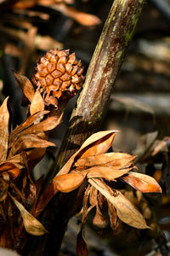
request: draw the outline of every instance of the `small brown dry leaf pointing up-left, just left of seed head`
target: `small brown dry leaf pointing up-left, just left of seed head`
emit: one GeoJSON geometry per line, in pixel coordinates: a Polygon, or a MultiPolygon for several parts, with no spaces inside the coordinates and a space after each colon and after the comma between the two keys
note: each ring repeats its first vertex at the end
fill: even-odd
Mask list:
{"type": "Polygon", "coordinates": [[[20,73],[16,73],[15,71],[13,71],[13,73],[14,73],[14,78],[20,85],[20,88],[22,89],[24,95],[31,102],[35,94],[34,86],[31,84],[31,81],[27,79],[26,76],[20,73]]]}

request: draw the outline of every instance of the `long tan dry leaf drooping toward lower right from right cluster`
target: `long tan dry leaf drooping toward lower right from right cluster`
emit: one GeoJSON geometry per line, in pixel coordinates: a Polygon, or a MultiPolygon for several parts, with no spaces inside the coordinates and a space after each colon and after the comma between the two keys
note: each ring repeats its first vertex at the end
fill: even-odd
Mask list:
{"type": "Polygon", "coordinates": [[[111,188],[99,179],[88,179],[88,182],[98,189],[107,200],[111,201],[113,206],[116,207],[116,213],[122,222],[137,229],[149,228],[143,215],[119,190],[114,189],[114,192],[111,193],[111,188]]]}

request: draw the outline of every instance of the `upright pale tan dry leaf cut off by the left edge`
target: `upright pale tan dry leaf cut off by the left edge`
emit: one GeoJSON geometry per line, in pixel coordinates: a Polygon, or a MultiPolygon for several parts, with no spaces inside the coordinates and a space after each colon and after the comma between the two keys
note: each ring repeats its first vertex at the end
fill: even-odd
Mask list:
{"type": "Polygon", "coordinates": [[[0,108],[0,160],[6,160],[8,150],[8,97],[0,108]]]}

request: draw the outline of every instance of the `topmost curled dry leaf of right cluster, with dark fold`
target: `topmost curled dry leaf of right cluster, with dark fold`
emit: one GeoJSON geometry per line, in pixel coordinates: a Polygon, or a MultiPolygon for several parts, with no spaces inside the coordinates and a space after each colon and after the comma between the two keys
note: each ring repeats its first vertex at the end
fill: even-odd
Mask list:
{"type": "Polygon", "coordinates": [[[66,162],[65,166],[62,167],[58,175],[70,172],[75,158],[78,158],[79,155],[81,157],[85,157],[87,155],[105,153],[105,151],[111,147],[115,134],[116,131],[99,131],[94,133],[91,137],[88,137],[88,139],[82,144],[82,147],[75,154],[73,154],[70,160],[66,162]],[[89,147],[90,145],[92,145],[92,147],[89,147]],[[91,149],[93,146],[94,149],[91,149]]]}

